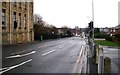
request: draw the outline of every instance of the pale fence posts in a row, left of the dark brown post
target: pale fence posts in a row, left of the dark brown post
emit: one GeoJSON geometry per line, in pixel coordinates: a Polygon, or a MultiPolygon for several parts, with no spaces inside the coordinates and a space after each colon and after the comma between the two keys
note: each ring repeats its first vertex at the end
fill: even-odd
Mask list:
{"type": "Polygon", "coordinates": [[[104,73],[104,52],[103,52],[103,48],[100,45],[96,44],[94,42],[94,40],[92,40],[90,38],[88,38],[88,44],[89,44],[89,53],[91,54],[90,57],[95,59],[94,63],[97,64],[98,74],[103,75],[103,73],[104,73]]]}

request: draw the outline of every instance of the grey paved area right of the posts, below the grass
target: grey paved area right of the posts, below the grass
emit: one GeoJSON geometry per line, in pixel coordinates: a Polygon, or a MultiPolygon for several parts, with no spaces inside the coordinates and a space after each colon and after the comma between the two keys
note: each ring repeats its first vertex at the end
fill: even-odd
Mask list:
{"type": "Polygon", "coordinates": [[[102,46],[104,49],[104,56],[111,58],[111,73],[119,75],[120,72],[120,47],[102,46]]]}

